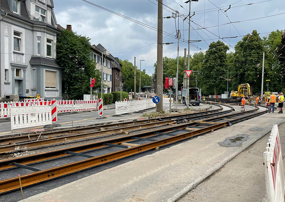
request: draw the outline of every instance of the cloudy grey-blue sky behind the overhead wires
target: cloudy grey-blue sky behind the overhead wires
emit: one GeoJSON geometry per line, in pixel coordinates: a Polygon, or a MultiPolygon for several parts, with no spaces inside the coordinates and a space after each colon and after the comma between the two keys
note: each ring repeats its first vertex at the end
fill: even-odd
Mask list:
{"type": "MultiPolygon", "coordinates": [[[[157,31],[82,0],[53,1],[58,24],[63,27],[66,27],[66,24],[71,24],[73,31],[90,37],[92,45],[102,44],[114,57],[122,60],[128,59],[132,63],[134,63],[134,57],[137,57],[136,63],[138,67],[140,65],[138,60],[145,60],[142,61],[142,69],[145,69],[149,75],[154,72],[153,64],[156,62],[157,31]]],[[[177,10],[179,15],[187,16],[189,3],[186,4],[184,1],[163,0],[165,4],[163,17],[172,16],[173,10],[177,10]]],[[[157,27],[157,0],[89,0],[89,2],[154,28],[157,27]]],[[[195,15],[191,18],[194,23],[191,22],[190,40],[202,41],[191,43],[193,45],[190,46],[191,55],[199,52],[200,49],[202,51],[207,50],[208,45],[213,41],[219,40],[219,37],[238,36],[236,38],[224,39],[225,44],[234,47],[236,42],[241,40],[240,36],[251,33],[254,29],[260,33],[260,37],[266,37],[267,32],[285,29],[285,14],[276,15],[285,13],[284,0],[199,0],[198,2],[191,2],[191,15],[193,15],[193,12],[195,12],[195,15]],[[230,4],[231,8],[224,12],[229,8],[230,4]],[[262,18],[270,15],[276,16],[262,18]],[[255,18],[262,19],[251,20],[255,18]],[[238,22],[243,20],[249,21],[238,22]],[[237,23],[231,24],[230,22],[237,23]],[[225,23],[229,24],[222,25],[225,23]],[[205,29],[194,30],[197,28],[205,29]]],[[[183,23],[183,18],[185,17],[163,19],[165,37],[163,42],[175,42],[174,44],[164,45],[163,56],[177,57],[177,39],[175,39],[175,35],[176,28],[178,29],[178,19],[179,30],[181,30],[179,55],[184,56],[184,48],[188,48],[189,24],[188,20],[185,20],[183,23]]],[[[234,51],[233,48],[230,50],[234,51]]]]}

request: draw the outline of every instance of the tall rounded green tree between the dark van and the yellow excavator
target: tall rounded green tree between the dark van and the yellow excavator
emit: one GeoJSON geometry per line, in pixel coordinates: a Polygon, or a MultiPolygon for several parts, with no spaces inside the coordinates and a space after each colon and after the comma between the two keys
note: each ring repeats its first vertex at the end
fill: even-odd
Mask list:
{"type": "Polygon", "coordinates": [[[221,76],[226,67],[227,50],[229,47],[220,40],[212,42],[206,50],[202,67],[204,81],[202,91],[206,94],[220,94],[227,88],[225,79],[221,76]]]}

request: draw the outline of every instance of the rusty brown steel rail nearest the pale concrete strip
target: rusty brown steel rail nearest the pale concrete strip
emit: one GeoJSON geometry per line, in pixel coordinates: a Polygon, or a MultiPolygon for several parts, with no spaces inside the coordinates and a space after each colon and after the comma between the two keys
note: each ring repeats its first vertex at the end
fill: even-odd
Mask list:
{"type": "MultiPolygon", "coordinates": [[[[247,116],[242,117],[242,120],[249,119],[249,118],[254,117],[254,116],[259,116],[263,113],[266,113],[266,111],[257,112],[254,114],[249,114],[247,116]]],[[[232,123],[234,121],[235,122],[240,121],[240,118],[231,120],[232,123]]],[[[159,147],[159,146],[164,146],[164,145],[167,145],[170,143],[174,143],[177,141],[188,139],[190,137],[202,135],[202,134],[209,132],[211,130],[216,130],[216,129],[219,129],[221,127],[224,127],[224,126],[228,125],[228,122],[230,122],[230,121],[222,122],[219,124],[214,124],[214,125],[207,126],[205,128],[201,128],[201,129],[197,129],[197,130],[194,130],[191,132],[185,132],[185,133],[182,133],[179,135],[171,136],[169,138],[164,138],[164,139],[153,141],[150,143],[146,143],[146,144],[142,144],[142,145],[138,145],[138,146],[133,146],[131,148],[122,149],[122,150],[119,150],[116,152],[111,152],[111,153],[100,155],[97,157],[88,157],[88,159],[68,163],[65,165],[58,166],[58,167],[48,168],[48,169],[41,170],[41,171],[35,171],[33,173],[22,175],[21,176],[21,183],[22,183],[22,186],[24,187],[27,185],[31,185],[31,184],[35,184],[38,182],[43,182],[45,180],[53,179],[53,178],[56,178],[59,176],[63,176],[63,175],[69,174],[69,173],[80,171],[80,170],[83,170],[86,168],[91,168],[91,167],[94,167],[96,165],[104,164],[106,162],[121,159],[123,157],[134,155],[134,154],[137,154],[140,152],[145,152],[145,151],[148,151],[150,149],[154,149],[154,148],[159,147]]],[[[189,123],[186,123],[186,124],[189,124],[189,123]]],[[[186,124],[181,124],[181,125],[184,126],[186,124]]],[[[155,134],[155,131],[153,131],[152,134],[155,134]]],[[[101,146],[105,146],[105,144],[102,144],[101,146]]],[[[66,153],[67,152],[68,151],[66,150],[66,153]]],[[[70,152],[70,153],[72,153],[72,152],[70,152]]],[[[14,159],[14,161],[15,161],[15,159],[14,159]]],[[[19,162],[17,162],[17,163],[19,163],[19,162]]],[[[0,193],[19,188],[20,185],[19,185],[18,180],[19,180],[18,177],[13,177],[13,178],[9,178],[9,179],[5,179],[5,180],[0,181],[0,193]]]]}

